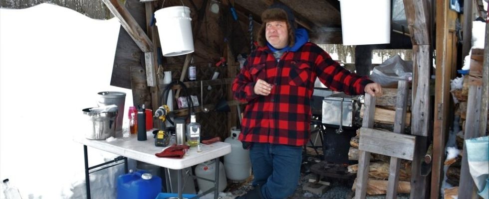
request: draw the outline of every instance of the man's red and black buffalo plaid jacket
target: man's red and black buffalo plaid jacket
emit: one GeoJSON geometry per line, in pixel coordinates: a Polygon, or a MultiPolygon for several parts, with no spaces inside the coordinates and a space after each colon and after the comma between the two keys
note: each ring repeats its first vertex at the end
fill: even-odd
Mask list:
{"type": "Polygon", "coordinates": [[[268,47],[258,47],[233,82],[233,95],[247,102],[242,133],[245,142],[302,146],[310,137],[311,97],[316,77],[334,91],[364,94],[371,80],[350,73],[317,45],[307,42],[276,61],[268,47]],[[273,84],[270,95],[254,94],[258,79],[273,84]]]}

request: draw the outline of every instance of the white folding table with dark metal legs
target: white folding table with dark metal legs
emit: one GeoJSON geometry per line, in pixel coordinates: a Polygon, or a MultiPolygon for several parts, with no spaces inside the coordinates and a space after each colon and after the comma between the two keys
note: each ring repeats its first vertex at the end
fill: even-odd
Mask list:
{"type": "MultiPolygon", "coordinates": [[[[131,158],[141,162],[157,165],[167,169],[177,170],[177,182],[178,182],[178,197],[182,199],[182,169],[191,167],[205,161],[216,159],[216,178],[214,181],[214,188],[200,194],[205,194],[214,191],[214,198],[217,199],[219,195],[219,157],[231,153],[231,144],[225,142],[216,142],[210,145],[202,144],[201,152],[197,152],[197,147],[192,147],[188,151],[188,156],[184,156],[182,159],[175,158],[160,158],[155,154],[162,152],[167,147],[156,147],[154,144],[154,138],[152,131],[148,131],[147,140],[138,141],[137,136],[130,135],[129,137],[119,137],[113,141],[107,142],[106,140],[90,140],[83,136],[75,136],[73,140],[77,143],[83,144],[84,158],[85,158],[85,180],[87,189],[87,199],[90,199],[90,181],[88,178],[88,171],[98,166],[106,165],[103,163],[95,167],[88,167],[88,154],[87,146],[114,153],[125,157],[126,173],[127,173],[127,159],[131,158]]],[[[114,161],[111,161],[114,162],[114,161]]]]}

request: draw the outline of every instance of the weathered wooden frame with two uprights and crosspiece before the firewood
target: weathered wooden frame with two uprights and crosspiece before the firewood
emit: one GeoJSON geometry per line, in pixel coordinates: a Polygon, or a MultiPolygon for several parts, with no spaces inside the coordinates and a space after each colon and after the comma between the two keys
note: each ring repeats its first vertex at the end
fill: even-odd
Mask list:
{"type": "Polygon", "coordinates": [[[399,168],[401,159],[413,160],[416,136],[403,134],[406,119],[409,86],[407,81],[399,81],[397,89],[394,132],[373,129],[375,98],[365,94],[365,111],[360,128],[358,173],[355,199],[365,199],[368,187],[370,153],[391,157],[389,182],[386,199],[397,198],[399,168]]]}

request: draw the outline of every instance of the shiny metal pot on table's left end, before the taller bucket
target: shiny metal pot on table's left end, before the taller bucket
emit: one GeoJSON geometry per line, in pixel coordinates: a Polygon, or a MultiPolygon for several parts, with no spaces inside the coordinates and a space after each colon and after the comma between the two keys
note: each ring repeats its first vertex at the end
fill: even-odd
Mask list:
{"type": "Polygon", "coordinates": [[[104,140],[115,137],[118,111],[90,112],[90,108],[83,109],[87,115],[85,137],[91,140],[104,140]]]}

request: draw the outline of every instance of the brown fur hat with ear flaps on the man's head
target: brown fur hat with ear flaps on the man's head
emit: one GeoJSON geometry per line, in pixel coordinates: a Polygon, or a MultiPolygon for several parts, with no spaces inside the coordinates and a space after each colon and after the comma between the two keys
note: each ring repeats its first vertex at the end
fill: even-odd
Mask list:
{"type": "Polygon", "coordinates": [[[261,13],[261,27],[256,40],[258,45],[266,46],[265,28],[266,22],[269,21],[285,21],[288,29],[288,46],[292,47],[295,44],[295,19],[292,10],[282,3],[273,3],[261,13]]]}

